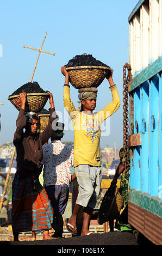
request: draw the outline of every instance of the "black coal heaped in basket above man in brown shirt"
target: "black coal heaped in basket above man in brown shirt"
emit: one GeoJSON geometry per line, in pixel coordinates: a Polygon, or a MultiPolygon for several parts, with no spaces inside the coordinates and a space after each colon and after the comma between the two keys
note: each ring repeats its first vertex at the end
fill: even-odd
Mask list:
{"type": "Polygon", "coordinates": [[[23,84],[23,86],[15,90],[15,92],[10,96],[18,95],[20,93],[47,93],[47,92],[45,92],[45,90],[43,90],[39,86],[38,82],[33,82],[33,83],[29,82],[29,83],[23,84]]]}

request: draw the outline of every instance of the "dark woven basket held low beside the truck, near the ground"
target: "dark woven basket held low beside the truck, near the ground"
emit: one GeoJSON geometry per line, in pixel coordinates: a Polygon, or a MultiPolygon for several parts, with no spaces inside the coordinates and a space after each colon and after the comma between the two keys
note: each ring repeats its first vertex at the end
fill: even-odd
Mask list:
{"type": "Polygon", "coordinates": [[[109,187],[102,200],[98,212],[98,224],[102,225],[104,222],[116,220],[123,206],[123,198],[120,189],[117,186],[109,187]]]}

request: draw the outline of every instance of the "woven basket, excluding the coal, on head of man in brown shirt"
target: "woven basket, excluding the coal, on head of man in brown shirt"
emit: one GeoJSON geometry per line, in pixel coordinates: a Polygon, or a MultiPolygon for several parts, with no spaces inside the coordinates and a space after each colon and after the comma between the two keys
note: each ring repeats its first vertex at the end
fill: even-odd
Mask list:
{"type": "MultiPolygon", "coordinates": [[[[27,93],[27,101],[25,106],[25,112],[40,112],[41,109],[46,105],[49,98],[48,93],[27,93]]],[[[20,95],[9,96],[8,100],[20,111],[21,101],[20,95]]]]}

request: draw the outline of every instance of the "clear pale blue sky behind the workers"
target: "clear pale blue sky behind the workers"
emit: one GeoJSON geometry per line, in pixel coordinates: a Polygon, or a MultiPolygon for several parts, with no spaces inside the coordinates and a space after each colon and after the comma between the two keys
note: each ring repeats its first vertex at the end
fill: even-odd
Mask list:
{"type": "MultiPolygon", "coordinates": [[[[63,86],[65,77],[61,66],[76,55],[92,54],[110,66],[113,80],[119,90],[121,106],[103,124],[100,146],[121,148],[123,145],[123,65],[129,63],[128,17],[138,0],[28,0],[2,1],[0,8],[0,144],[13,141],[17,109],[8,100],[23,84],[30,81],[38,51],[24,45],[40,48],[47,32],[35,70],[33,82],[53,94],[60,121],[65,123],[63,141],[73,141],[71,120],[64,109],[63,86]]],[[[78,107],[78,90],[70,87],[71,99],[78,107]]],[[[98,87],[95,111],[111,101],[109,83],[98,87]]],[[[45,108],[50,107],[47,101],[45,108]]]]}

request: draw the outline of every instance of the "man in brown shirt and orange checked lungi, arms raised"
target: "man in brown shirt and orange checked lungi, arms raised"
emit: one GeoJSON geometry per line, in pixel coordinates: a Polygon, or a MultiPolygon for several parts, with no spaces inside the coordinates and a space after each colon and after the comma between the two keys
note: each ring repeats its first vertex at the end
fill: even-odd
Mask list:
{"type": "Polygon", "coordinates": [[[53,209],[45,189],[39,182],[42,171],[42,145],[51,137],[52,122],[57,118],[52,93],[49,95],[49,123],[43,132],[38,133],[39,118],[35,113],[26,117],[26,93],[20,93],[21,109],[16,120],[13,141],[17,151],[17,171],[13,180],[12,197],[14,241],[18,241],[18,233],[23,231],[43,230],[43,239],[53,238],[48,235],[53,209]]]}

